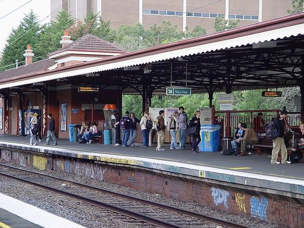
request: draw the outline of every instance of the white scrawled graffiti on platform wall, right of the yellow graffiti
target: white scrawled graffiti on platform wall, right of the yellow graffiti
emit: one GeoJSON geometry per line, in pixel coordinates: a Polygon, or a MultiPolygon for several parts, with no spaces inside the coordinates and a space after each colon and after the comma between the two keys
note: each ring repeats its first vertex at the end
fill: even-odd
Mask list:
{"type": "Polygon", "coordinates": [[[91,177],[92,179],[102,180],[103,174],[106,169],[103,169],[101,166],[96,164],[82,163],[78,161],[73,161],[73,166],[75,174],[80,176],[91,177]]]}

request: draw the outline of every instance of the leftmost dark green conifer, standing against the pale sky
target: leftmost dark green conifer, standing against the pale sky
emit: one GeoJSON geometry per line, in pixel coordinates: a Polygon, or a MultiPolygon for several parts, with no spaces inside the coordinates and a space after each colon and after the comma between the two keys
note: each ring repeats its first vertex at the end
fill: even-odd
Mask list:
{"type": "Polygon", "coordinates": [[[39,24],[37,15],[31,10],[29,14],[25,15],[19,26],[13,29],[8,36],[0,62],[1,71],[14,67],[16,59],[18,59],[19,65],[24,65],[23,53],[28,44],[34,50],[35,56],[41,55],[39,51],[35,50],[39,42],[40,30],[41,25],[39,24]]]}

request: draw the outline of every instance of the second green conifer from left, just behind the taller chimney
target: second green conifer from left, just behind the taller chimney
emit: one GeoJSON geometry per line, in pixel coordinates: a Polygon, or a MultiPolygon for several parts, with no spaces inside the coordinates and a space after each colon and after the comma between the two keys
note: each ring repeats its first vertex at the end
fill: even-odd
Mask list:
{"type": "Polygon", "coordinates": [[[65,10],[58,13],[56,21],[52,21],[43,27],[41,32],[41,39],[37,50],[47,55],[61,48],[60,40],[65,29],[70,28],[75,22],[70,14],[65,10]]]}

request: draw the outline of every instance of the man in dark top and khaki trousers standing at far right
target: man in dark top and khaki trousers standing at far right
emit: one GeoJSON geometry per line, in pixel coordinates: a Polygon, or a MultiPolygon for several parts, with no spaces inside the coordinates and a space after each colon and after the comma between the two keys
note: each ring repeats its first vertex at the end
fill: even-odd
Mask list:
{"type": "Polygon", "coordinates": [[[275,125],[277,129],[279,130],[279,136],[273,140],[273,150],[271,154],[271,164],[290,164],[291,162],[287,162],[287,149],[286,145],[284,143],[284,124],[285,124],[285,119],[287,117],[287,111],[282,110],[280,115],[276,117],[275,119],[275,125]],[[278,154],[279,151],[281,151],[281,157],[282,160],[281,162],[278,162],[278,154]]]}

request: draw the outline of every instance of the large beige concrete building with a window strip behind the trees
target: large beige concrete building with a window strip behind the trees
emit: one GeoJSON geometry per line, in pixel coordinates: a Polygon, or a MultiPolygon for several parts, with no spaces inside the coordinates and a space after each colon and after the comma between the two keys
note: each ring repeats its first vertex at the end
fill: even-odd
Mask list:
{"type": "Polygon", "coordinates": [[[240,19],[239,26],[265,21],[287,15],[292,0],[51,0],[51,15],[56,19],[64,9],[73,17],[83,20],[92,10],[110,20],[111,26],[140,22],[149,26],[168,19],[181,30],[192,30],[196,25],[214,32],[215,18],[240,19]]]}

